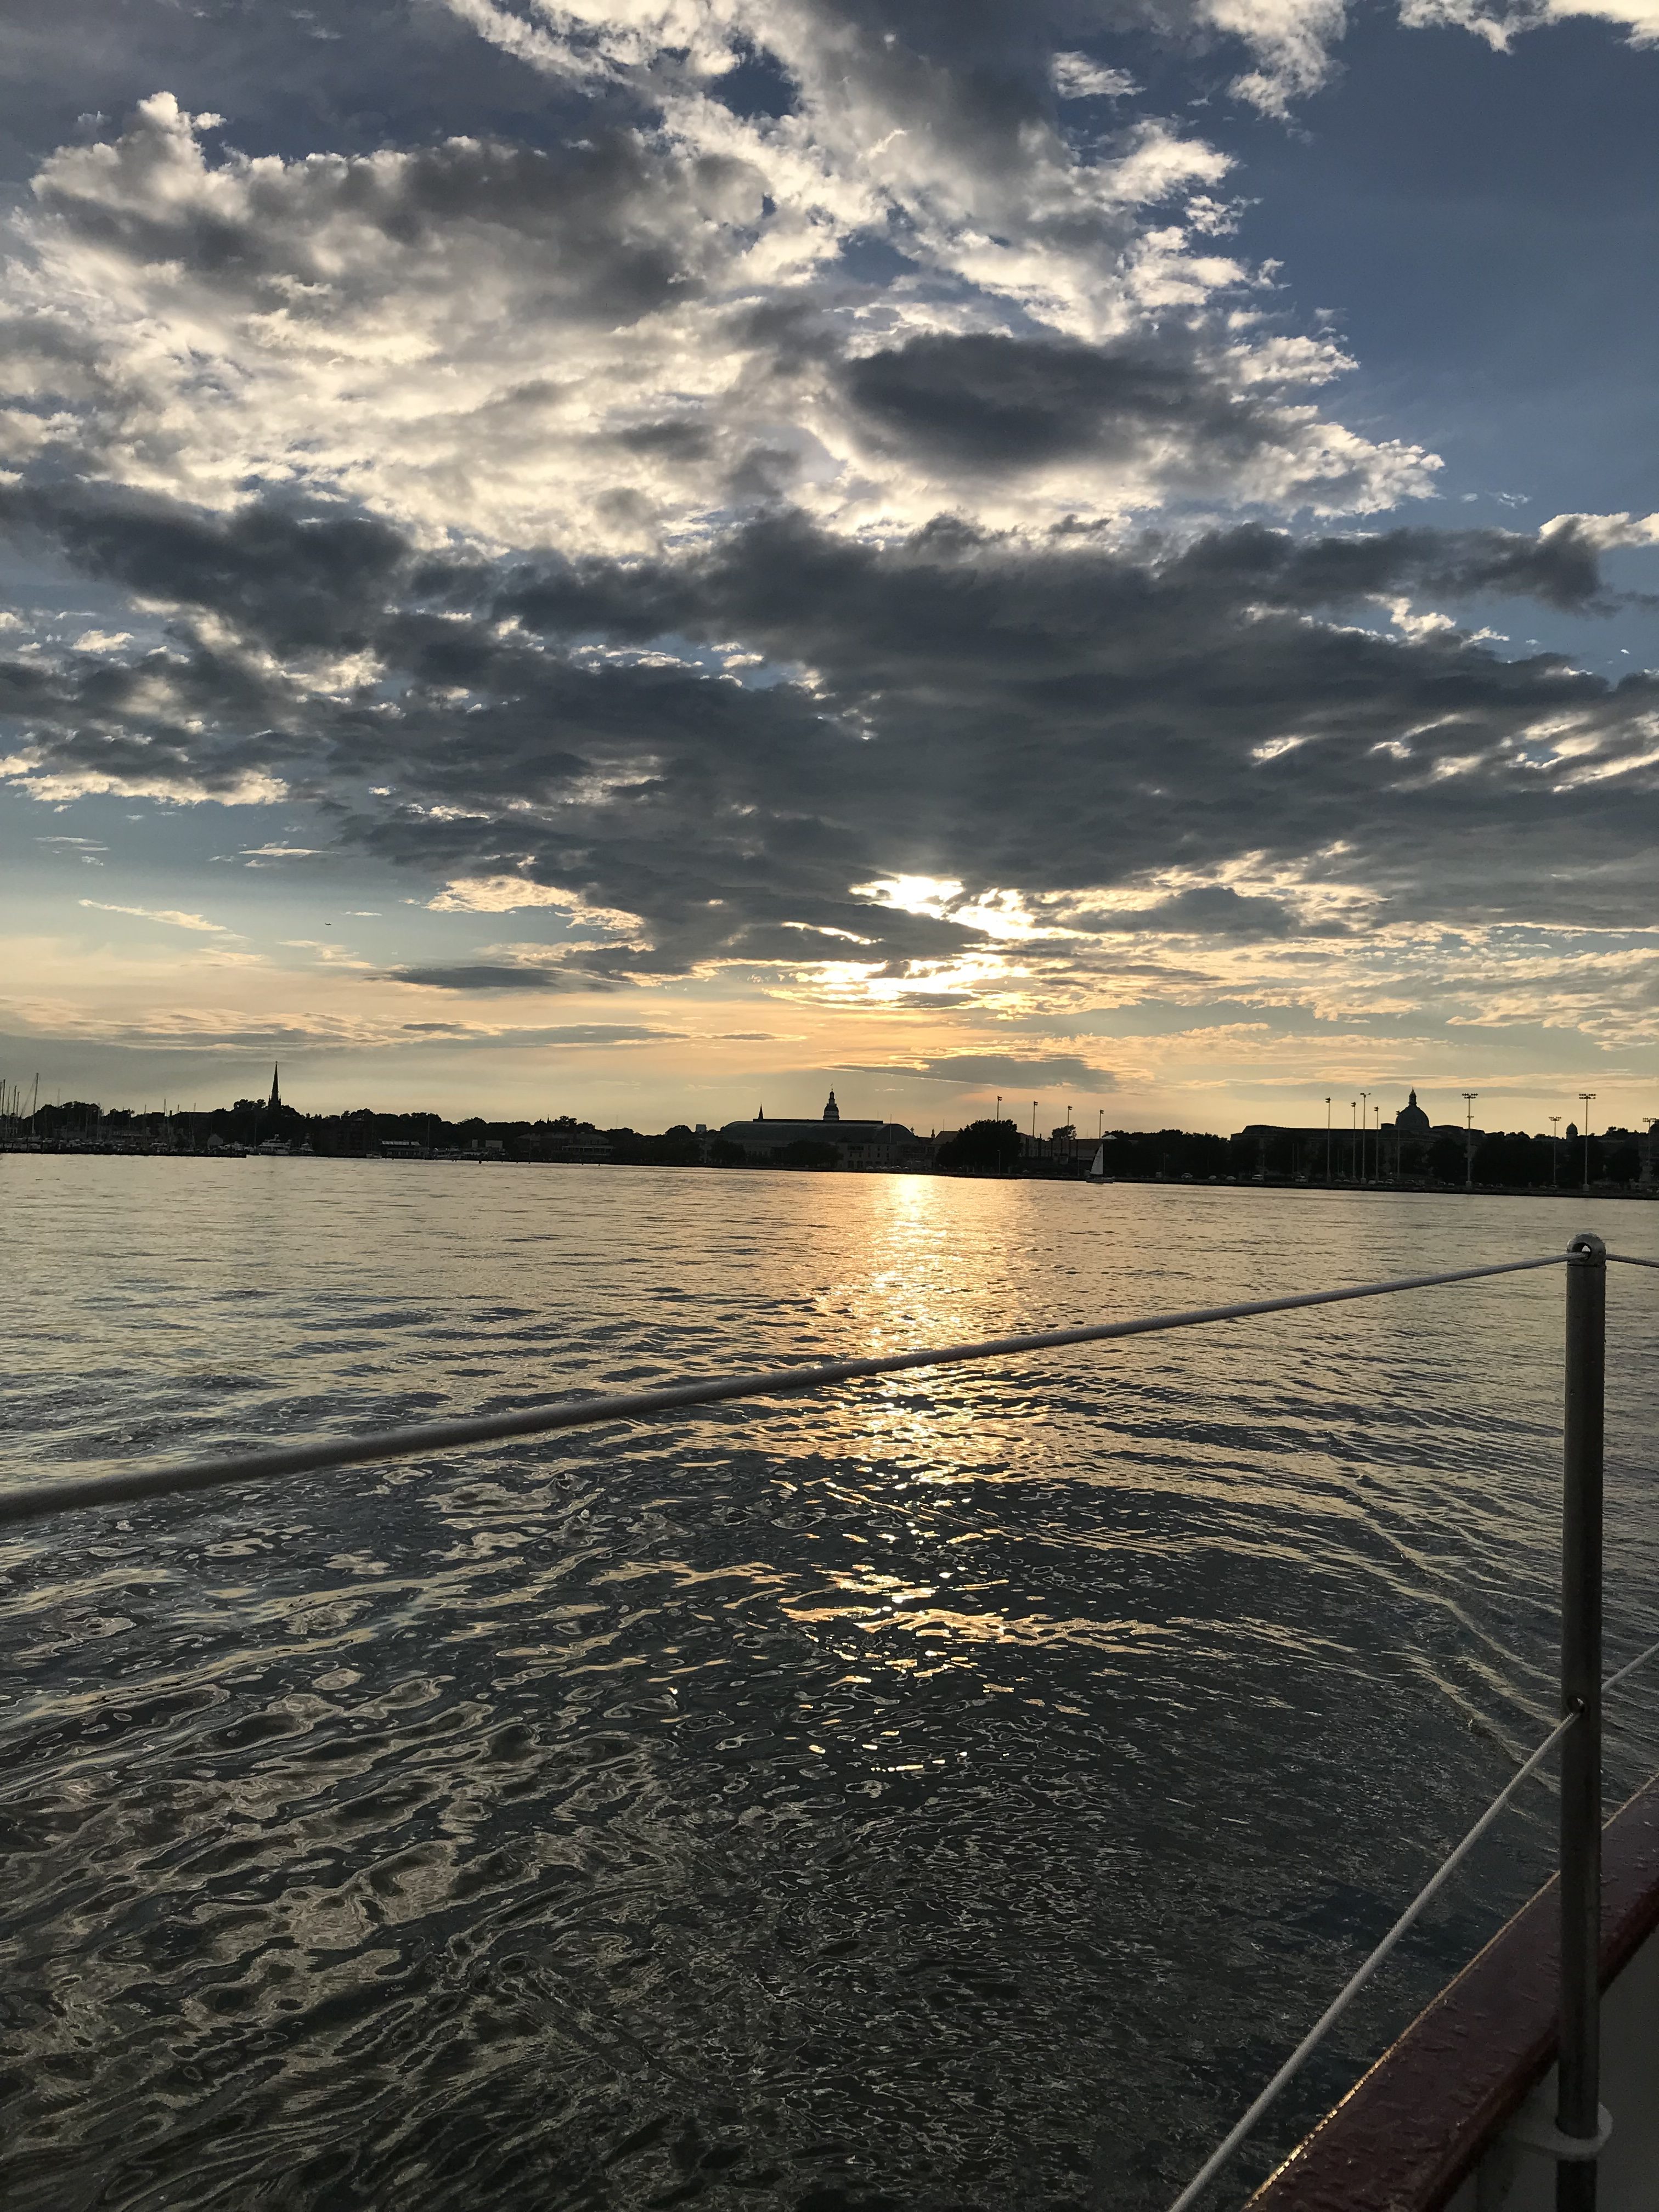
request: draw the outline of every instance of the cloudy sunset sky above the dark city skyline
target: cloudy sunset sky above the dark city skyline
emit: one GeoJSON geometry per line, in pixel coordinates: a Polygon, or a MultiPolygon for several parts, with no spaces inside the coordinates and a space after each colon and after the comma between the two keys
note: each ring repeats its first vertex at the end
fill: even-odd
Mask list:
{"type": "Polygon", "coordinates": [[[9,0],[0,1075],[1659,1113],[1659,0],[9,0]]]}

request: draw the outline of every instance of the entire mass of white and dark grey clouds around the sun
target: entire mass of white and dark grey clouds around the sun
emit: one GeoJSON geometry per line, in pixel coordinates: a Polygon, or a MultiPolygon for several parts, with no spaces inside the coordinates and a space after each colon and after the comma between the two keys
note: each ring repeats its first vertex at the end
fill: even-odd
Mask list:
{"type": "MultiPolygon", "coordinates": [[[[1285,113],[1338,0],[376,11],[445,55],[418,119],[365,38],[352,97],[292,64],[261,106],[234,13],[190,18],[243,40],[223,95],[166,46],[13,232],[0,522],[100,586],[84,650],[7,630],[15,790],[283,799],[239,856],[400,869],[387,973],[451,998],[1380,1006],[1438,929],[1447,993],[1506,1006],[1555,958],[1515,931],[1650,914],[1652,677],[1458,617],[1610,611],[1652,518],[1336,526],[1433,456],[1340,420],[1248,179],[1121,66],[1285,113]]],[[[1562,1004],[1648,1020],[1584,975],[1562,1004]]]]}

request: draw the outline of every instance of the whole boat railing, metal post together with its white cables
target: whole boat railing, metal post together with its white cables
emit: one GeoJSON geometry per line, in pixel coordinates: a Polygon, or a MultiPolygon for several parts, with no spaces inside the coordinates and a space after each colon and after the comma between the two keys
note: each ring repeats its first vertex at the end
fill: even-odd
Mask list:
{"type": "Polygon", "coordinates": [[[1279,1298],[1245,1298],[1128,1321],[1099,1321],[1073,1329],[1035,1329],[991,1336],[964,1345],[933,1345],[914,1352],[883,1352],[852,1360],[821,1360],[776,1367],[763,1374],[703,1376],[657,1389],[593,1398],[560,1398],[553,1405],[511,1413],[476,1413],[460,1420],[429,1420],[365,1436],[285,1444],[276,1451],[226,1453],[175,1467],[135,1467],[97,1475],[64,1475],[20,1482],[0,1491],[0,1528],[49,1520],[60,1513],[97,1511],[146,1498],[179,1498],[221,1491],[290,1475],[365,1467],[380,1460],[420,1458],[471,1444],[551,1436],[608,1422],[648,1420],[661,1413],[723,1405],[739,1398],[794,1398],[869,1376],[909,1374],[925,1367],[956,1367],[967,1360],[1057,1352],[1071,1345],[1119,1343],[1168,1329],[1192,1329],[1219,1321],[1250,1321],[1292,1314],[1358,1298],[1387,1298],[1407,1290],[1438,1290],[1486,1276],[1528,1274],[1566,1267],[1566,1389],[1562,1418],[1562,1719],[1522,1761],[1469,1834],[1436,1867],[1400,1913],[1383,1942],[1338,1991],[1296,2051],[1241,2115],[1170,2205],[1188,2212],[1221,2174],[1256,2121],[1301,2073],[1336,2022],[1378,1973],[1400,1938],[1444,1889],[1469,1851],[1498,1820],[1520,1787],[1559,1745],[1559,2033],[1557,2110],[1551,2139],[1542,2146],[1557,2161],[1557,2212],[1593,2212],[1597,2154],[1608,2139],[1608,2115],[1599,2101],[1599,1929],[1601,1929],[1601,1699],[1648,1659],[1659,1644],[1601,1679],[1601,1464],[1606,1402],[1606,1270],[1608,1263],[1659,1267],[1659,1261],[1608,1252],[1599,1237],[1575,1237],[1566,1252],[1498,1261],[1482,1267],[1447,1267],[1436,1274],[1405,1274],[1380,1283],[1347,1283],[1336,1290],[1305,1290],[1279,1298]]]}

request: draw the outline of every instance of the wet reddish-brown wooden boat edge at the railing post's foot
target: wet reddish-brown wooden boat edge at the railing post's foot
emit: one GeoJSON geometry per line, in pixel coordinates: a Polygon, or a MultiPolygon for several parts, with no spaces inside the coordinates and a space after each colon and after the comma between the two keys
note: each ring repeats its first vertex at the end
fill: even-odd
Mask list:
{"type": "MultiPolygon", "coordinates": [[[[1659,1774],[1601,1829],[1601,1989],[1659,1929],[1659,1774]]],[[[1383,2053],[1248,2212],[1440,2212],[1555,2059],[1555,1878],[1383,2053]]]]}

